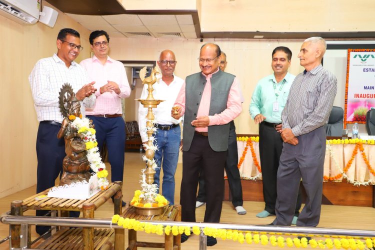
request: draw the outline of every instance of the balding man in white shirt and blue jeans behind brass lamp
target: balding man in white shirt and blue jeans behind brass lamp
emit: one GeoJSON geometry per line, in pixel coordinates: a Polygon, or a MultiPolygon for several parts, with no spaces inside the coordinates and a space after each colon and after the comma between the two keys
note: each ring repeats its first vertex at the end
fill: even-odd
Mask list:
{"type": "MultiPolygon", "coordinates": [[[[163,169],[162,195],[174,204],[174,173],[177,168],[178,149],[181,141],[181,128],[179,122],[181,117],[174,119],[170,116],[174,100],[183,84],[183,79],[173,74],[177,64],[173,51],[166,49],[161,51],[157,65],[161,70],[162,77],[158,83],[153,84],[153,97],[158,100],[164,100],[152,111],[155,115],[156,132],[153,134],[157,149],[155,157],[157,163],[156,173],[153,177],[154,184],[159,187],[160,167],[163,169]]],[[[147,98],[147,85],[144,84],[141,99],[147,98]]],[[[146,134],[146,116],[147,108],[139,105],[138,124],[142,142],[147,142],[146,134]]]]}

